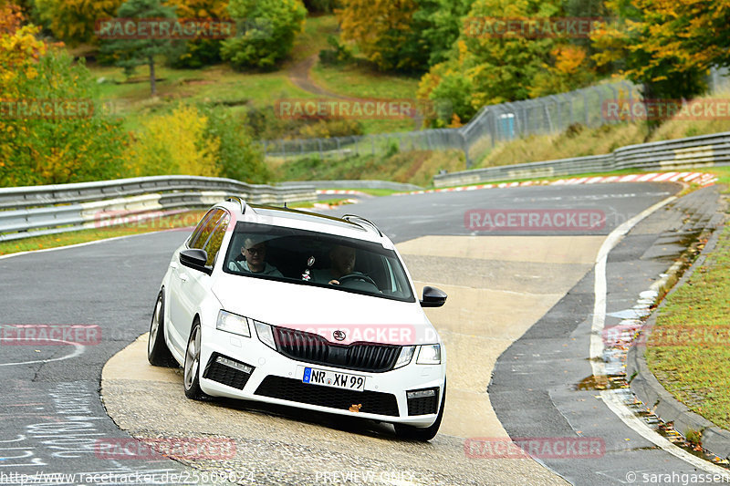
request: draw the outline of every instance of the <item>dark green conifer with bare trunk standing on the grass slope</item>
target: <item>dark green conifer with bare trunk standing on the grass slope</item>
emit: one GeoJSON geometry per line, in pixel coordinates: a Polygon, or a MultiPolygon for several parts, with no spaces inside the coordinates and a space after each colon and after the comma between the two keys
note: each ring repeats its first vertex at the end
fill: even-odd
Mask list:
{"type": "MultiPolygon", "coordinates": [[[[174,19],[173,7],[162,5],[160,0],[127,0],[117,11],[120,18],[168,18],[174,19]]],[[[155,81],[155,56],[169,54],[171,40],[168,38],[127,39],[119,38],[105,40],[102,52],[114,58],[114,64],[124,68],[127,76],[131,76],[139,66],[147,65],[150,68],[150,91],[152,96],[157,95],[155,81]]]]}

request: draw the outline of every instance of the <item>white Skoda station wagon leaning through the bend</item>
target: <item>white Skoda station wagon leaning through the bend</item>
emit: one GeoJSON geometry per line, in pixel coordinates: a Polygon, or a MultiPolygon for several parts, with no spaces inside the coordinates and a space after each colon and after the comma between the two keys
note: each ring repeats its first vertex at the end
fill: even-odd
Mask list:
{"type": "Polygon", "coordinates": [[[172,255],[148,358],[188,398],[243,398],[392,423],[433,439],[446,353],[391,240],[359,216],[216,204],[172,255]]]}

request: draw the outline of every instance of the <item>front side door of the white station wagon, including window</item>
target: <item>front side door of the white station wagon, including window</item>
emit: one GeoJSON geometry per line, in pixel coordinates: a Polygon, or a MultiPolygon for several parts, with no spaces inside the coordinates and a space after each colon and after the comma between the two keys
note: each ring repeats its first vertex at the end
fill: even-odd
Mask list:
{"type": "MultiPolygon", "coordinates": [[[[205,262],[205,266],[213,270],[215,257],[221,249],[221,243],[225,236],[225,231],[228,228],[228,223],[231,222],[231,216],[228,212],[221,210],[220,214],[216,214],[214,218],[210,220],[215,222],[212,226],[210,233],[207,230],[203,230],[200,240],[195,244],[199,244],[203,241],[203,236],[207,234],[207,239],[203,244],[203,250],[208,255],[208,260],[205,262]]],[[[183,321],[179,325],[181,338],[184,339],[184,346],[187,346],[187,339],[190,336],[190,330],[193,326],[193,318],[195,314],[201,308],[201,303],[211,293],[211,280],[212,276],[204,272],[197,270],[188,269],[188,279],[183,282],[184,292],[181,293],[180,305],[183,307],[183,321]]]]}

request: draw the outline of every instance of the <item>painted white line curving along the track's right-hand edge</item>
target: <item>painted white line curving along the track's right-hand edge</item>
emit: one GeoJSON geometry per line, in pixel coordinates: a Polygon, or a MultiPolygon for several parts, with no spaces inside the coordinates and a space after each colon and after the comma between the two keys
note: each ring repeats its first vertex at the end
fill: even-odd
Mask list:
{"type": "MultiPolygon", "coordinates": [[[[613,230],[600,246],[595,266],[595,283],[593,290],[595,294],[595,304],[593,305],[593,324],[591,326],[589,348],[589,356],[591,358],[590,366],[593,369],[593,375],[596,377],[604,376],[606,374],[606,367],[603,363],[603,339],[601,336],[603,333],[603,327],[606,323],[606,261],[609,253],[620,242],[621,238],[631,231],[631,228],[652,214],[652,212],[657,211],[675,199],[676,197],[672,196],[662,202],[657,202],[651,208],[640,212],[631,218],[631,220],[624,222],[618,228],[613,230]]],[[[727,470],[724,468],[715,466],[713,463],[706,460],[702,460],[663,438],[641,419],[636,417],[631,409],[624,405],[615,390],[602,390],[600,392],[600,397],[603,399],[610,411],[616,414],[623,423],[641,435],[644,439],[652,442],[652,444],[662,448],[662,450],[665,450],[666,452],[669,452],[674,457],[692,464],[695,468],[715,474],[727,474],[727,470]]]]}

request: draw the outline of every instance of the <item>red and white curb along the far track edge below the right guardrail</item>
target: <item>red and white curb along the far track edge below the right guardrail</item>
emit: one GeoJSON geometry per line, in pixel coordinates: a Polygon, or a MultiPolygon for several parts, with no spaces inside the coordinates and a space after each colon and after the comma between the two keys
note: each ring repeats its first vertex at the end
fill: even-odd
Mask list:
{"type": "Polygon", "coordinates": [[[610,175],[597,177],[575,177],[558,181],[522,181],[502,182],[499,184],[479,184],[473,186],[450,187],[445,189],[429,189],[425,191],[399,192],[394,196],[409,194],[426,194],[429,192],[476,191],[479,189],[494,189],[523,186],[568,186],[579,184],[606,184],[610,182],[692,182],[700,186],[709,186],[717,181],[717,176],[705,172],[652,172],[644,174],[610,175]]]}

